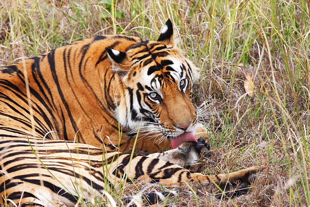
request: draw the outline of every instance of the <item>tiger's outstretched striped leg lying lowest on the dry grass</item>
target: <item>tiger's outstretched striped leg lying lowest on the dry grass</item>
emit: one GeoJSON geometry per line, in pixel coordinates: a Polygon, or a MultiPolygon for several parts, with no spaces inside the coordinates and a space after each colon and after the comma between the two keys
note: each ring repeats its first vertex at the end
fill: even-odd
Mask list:
{"type": "MultiPolygon", "coordinates": [[[[125,155],[124,155],[125,156],[125,155]]],[[[127,155],[126,155],[127,156],[127,155]]],[[[120,157],[122,160],[122,156],[120,157]]],[[[114,164],[113,167],[117,167],[117,164],[114,164]]],[[[122,166],[122,168],[117,168],[116,170],[120,170],[119,178],[122,178],[124,172],[128,172],[128,178],[134,178],[137,180],[145,180],[150,183],[161,183],[166,186],[179,185],[188,181],[195,181],[202,186],[210,185],[216,183],[226,194],[229,195],[239,195],[237,194],[229,194],[230,190],[227,191],[227,186],[234,183],[244,183],[246,188],[242,188],[241,194],[246,192],[248,189],[248,185],[251,183],[253,178],[255,178],[256,174],[263,170],[264,166],[252,166],[243,170],[239,170],[236,172],[228,173],[228,174],[217,174],[217,175],[203,175],[200,173],[191,173],[189,170],[186,170],[179,165],[175,165],[172,163],[167,163],[158,159],[150,159],[146,157],[137,156],[131,161],[131,165],[122,166]],[[136,169],[136,166],[143,162],[143,164],[147,165],[144,167],[140,167],[139,171],[129,170],[136,169]],[[152,166],[152,168],[150,168],[152,166]],[[229,184],[228,184],[229,183],[229,184]]],[[[112,174],[115,174],[113,171],[112,174]]],[[[112,182],[115,182],[112,180],[112,182]]],[[[123,182],[122,180],[118,182],[123,182]]],[[[124,184],[124,183],[123,183],[124,184]]],[[[237,184],[238,185],[238,184],[237,184]]],[[[240,188],[234,188],[234,190],[239,191],[240,188]]]]}

